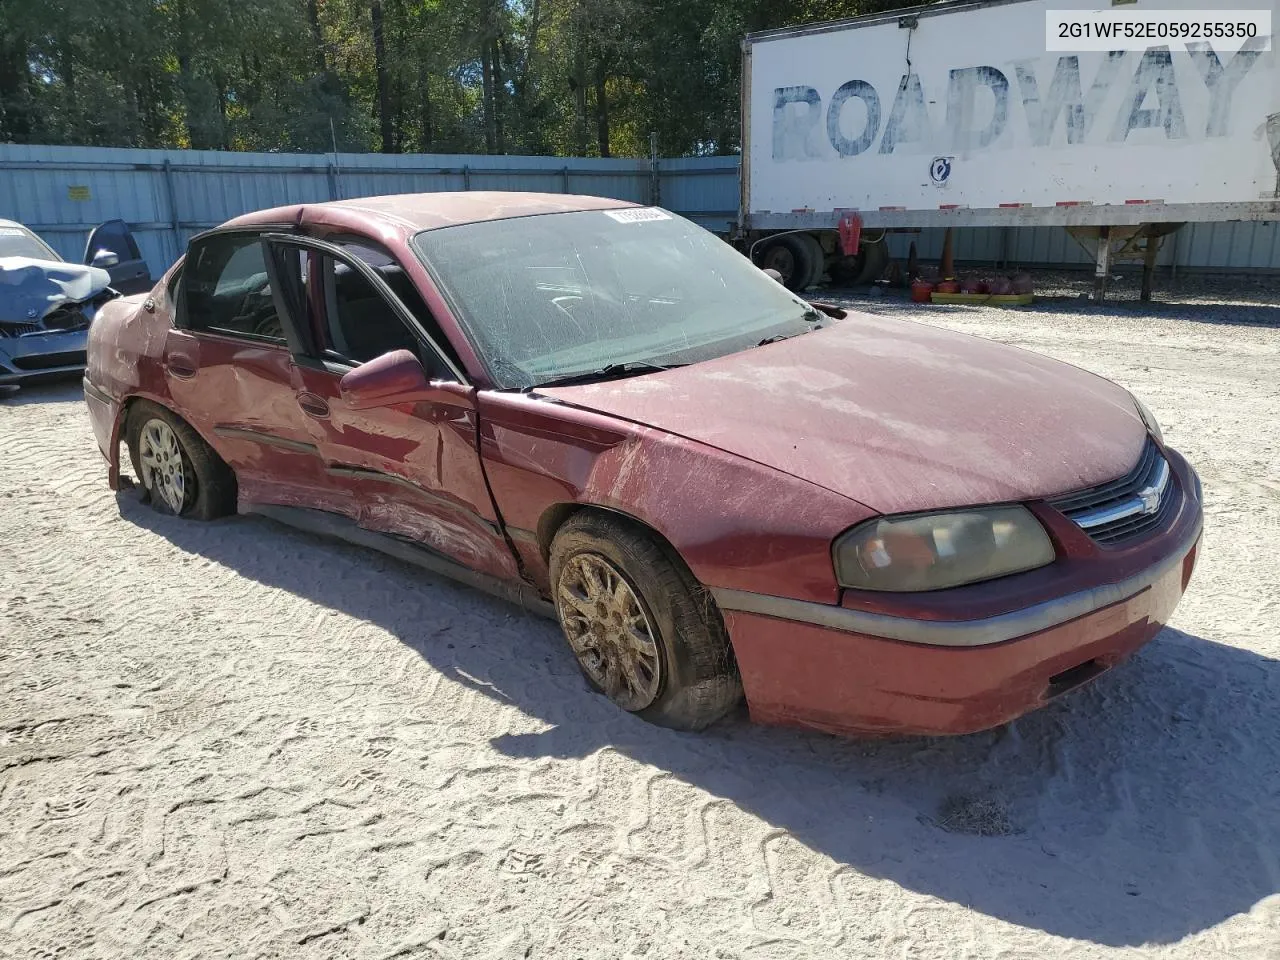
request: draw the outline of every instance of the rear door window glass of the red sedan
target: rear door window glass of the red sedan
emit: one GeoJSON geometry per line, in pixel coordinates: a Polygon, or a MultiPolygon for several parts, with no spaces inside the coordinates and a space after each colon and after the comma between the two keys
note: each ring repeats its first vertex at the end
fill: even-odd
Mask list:
{"type": "Polygon", "coordinates": [[[182,307],[187,329],[285,342],[255,234],[223,234],[193,246],[183,268],[182,307]]]}

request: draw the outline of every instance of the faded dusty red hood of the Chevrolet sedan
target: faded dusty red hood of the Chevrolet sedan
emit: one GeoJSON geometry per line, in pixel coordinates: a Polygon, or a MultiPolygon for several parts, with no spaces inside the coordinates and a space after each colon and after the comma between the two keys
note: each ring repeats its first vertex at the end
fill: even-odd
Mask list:
{"type": "Polygon", "coordinates": [[[538,393],[680,434],[882,513],[1037,499],[1124,475],[1120,387],[1016,347],[850,314],[687,367],[538,393]]]}

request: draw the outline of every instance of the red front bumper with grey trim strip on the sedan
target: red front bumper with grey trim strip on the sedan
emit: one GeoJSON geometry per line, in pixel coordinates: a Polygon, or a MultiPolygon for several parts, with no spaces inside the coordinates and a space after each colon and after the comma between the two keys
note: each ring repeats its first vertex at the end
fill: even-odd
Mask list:
{"type": "Polygon", "coordinates": [[[1187,589],[1199,541],[1197,502],[1188,535],[1140,573],[984,620],[713,593],[753,719],[846,735],[972,733],[1043,707],[1155,637],[1187,589]],[[801,613],[796,604],[803,616],[787,618],[801,613]]]}

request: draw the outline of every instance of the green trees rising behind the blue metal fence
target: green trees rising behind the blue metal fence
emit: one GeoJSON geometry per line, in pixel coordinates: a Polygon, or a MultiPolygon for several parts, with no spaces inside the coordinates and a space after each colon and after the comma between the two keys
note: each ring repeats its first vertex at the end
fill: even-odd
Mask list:
{"type": "Polygon", "coordinates": [[[637,156],[655,132],[727,154],[746,32],[908,5],[0,0],[0,140],[637,156]]]}

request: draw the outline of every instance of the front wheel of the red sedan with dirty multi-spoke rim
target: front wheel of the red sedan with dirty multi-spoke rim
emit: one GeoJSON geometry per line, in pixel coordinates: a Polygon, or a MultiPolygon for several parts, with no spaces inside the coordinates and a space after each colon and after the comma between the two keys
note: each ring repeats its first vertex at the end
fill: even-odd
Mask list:
{"type": "Polygon", "coordinates": [[[710,594],[680,557],[655,535],[626,517],[585,511],[570,517],[552,543],[550,575],[556,612],[570,650],[594,690],[643,719],[675,730],[701,730],[728,713],[742,698],[733,649],[710,594]],[[581,589],[584,571],[616,577],[598,596],[581,589]],[[621,590],[618,582],[626,586],[621,590]],[[607,611],[620,594],[630,596],[607,611]],[[590,616],[584,612],[593,609],[590,616]],[[635,612],[641,616],[636,617],[635,612]],[[625,616],[632,640],[623,640],[625,616]],[[614,617],[611,620],[611,616],[614,617]],[[627,644],[639,666],[608,667],[627,644]],[[635,650],[641,650],[635,654],[635,650]],[[645,663],[652,662],[652,668],[645,663]],[[603,677],[603,680],[602,680],[603,677]],[[612,677],[616,684],[609,682],[612,677]],[[613,689],[613,692],[611,692],[613,689]]]}

